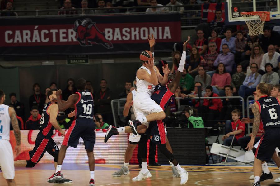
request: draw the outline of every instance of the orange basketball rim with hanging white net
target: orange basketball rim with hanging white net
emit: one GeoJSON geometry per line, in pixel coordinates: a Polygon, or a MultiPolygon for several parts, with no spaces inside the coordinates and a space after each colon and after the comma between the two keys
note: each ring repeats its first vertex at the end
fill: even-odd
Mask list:
{"type": "Polygon", "coordinates": [[[270,20],[270,12],[241,12],[241,15],[245,19],[250,36],[264,34],[264,22],[270,20]]]}

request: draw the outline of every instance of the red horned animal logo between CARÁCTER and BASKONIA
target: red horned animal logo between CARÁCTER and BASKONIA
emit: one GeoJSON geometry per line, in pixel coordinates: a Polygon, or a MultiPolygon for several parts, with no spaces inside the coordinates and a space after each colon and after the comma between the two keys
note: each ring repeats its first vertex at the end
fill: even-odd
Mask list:
{"type": "Polygon", "coordinates": [[[77,41],[81,46],[92,46],[92,43],[103,45],[105,48],[113,48],[113,44],[105,38],[104,32],[96,27],[91,19],[76,20],[73,30],[78,33],[77,41]]]}

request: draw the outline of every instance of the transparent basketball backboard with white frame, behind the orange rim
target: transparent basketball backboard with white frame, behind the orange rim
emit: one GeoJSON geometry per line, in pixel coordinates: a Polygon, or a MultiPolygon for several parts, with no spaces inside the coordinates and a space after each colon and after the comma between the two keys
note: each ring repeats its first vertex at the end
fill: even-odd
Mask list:
{"type": "MultiPolygon", "coordinates": [[[[226,0],[227,24],[243,24],[241,12],[269,11],[270,24],[280,25],[280,0],[226,0]]],[[[267,24],[266,22],[265,24],[267,24]]]]}

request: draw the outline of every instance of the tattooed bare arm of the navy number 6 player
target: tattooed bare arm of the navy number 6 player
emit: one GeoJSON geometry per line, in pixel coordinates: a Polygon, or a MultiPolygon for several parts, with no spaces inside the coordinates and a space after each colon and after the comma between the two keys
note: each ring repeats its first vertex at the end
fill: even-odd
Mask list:
{"type": "Polygon", "coordinates": [[[259,106],[257,103],[252,105],[252,112],[254,113],[254,123],[253,123],[253,130],[250,142],[247,144],[246,149],[252,150],[254,147],[255,137],[259,131],[259,124],[260,124],[260,113],[259,113],[259,106]]]}

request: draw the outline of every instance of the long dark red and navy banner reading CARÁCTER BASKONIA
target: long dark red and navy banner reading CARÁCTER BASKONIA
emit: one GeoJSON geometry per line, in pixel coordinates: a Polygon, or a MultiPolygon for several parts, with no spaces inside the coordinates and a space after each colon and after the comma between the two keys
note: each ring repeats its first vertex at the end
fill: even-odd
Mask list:
{"type": "Polygon", "coordinates": [[[148,34],[154,35],[156,50],[171,51],[174,42],[181,40],[180,16],[145,16],[44,18],[41,22],[37,18],[32,25],[28,19],[16,19],[19,25],[5,20],[8,25],[0,26],[1,55],[140,52],[148,49],[148,34]]]}

